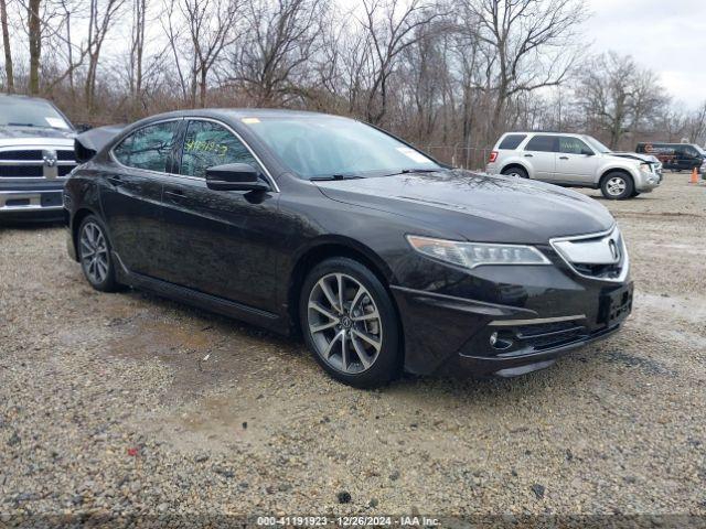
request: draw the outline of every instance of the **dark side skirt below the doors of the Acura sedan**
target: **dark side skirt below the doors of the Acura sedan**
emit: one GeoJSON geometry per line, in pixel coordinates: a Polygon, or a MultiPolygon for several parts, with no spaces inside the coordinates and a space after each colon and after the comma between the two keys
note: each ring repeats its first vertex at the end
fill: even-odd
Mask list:
{"type": "Polygon", "coordinates": [[[116,270],[118,272],[117,279],[118,282],[122,284],[140,290],[147,290],[174,301],[180,301],[197,306],[199,309],[204,309],[224,316],[233,317],[234,320],[257,325],[258,327],[265,327],[277,334],[290,334],[288,322],[284,321],[278,314],[244,305],[224,298],[218,298],[217,295],[199,292],[186,287],[170,283],[169,281],[162,281],[161,279],[131,272],[122,263],[118,253],[115,251],[111,253],[115,262],[119,264],[116,270]]]}

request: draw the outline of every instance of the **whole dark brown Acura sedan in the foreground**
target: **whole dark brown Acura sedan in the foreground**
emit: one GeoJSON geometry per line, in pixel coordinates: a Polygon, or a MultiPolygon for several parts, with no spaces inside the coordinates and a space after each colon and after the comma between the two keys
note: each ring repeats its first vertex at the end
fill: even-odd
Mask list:
{"type": "Polygon", "coordinates": [[[625,245],[597,201],[452,170],[340,117],[156,116],[81,165],[64,203],[94,288],[301,333],[357,387],[403,368],[521,375],[631,310],[625,245]]]}

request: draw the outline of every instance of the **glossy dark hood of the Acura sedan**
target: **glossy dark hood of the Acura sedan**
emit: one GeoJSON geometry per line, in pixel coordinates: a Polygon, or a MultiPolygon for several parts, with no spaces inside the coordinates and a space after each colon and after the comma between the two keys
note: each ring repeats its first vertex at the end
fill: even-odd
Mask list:
{"type": "Polygon", "coordinates": [[[614,224],[592,198],[512,176],[449,170],[317,184],[331,199],[410,217],[429,231],[475,241],[545,244],[614,224]]]}

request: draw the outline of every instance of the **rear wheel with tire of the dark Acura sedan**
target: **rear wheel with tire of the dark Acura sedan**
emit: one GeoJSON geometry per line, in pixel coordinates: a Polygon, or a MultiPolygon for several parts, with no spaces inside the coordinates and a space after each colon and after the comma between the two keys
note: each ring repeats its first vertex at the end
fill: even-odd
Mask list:
{"type": "Polygon", "coordinates": [[[76,253],[86,280],[100,292],[115,292],[120,287],[111,249],[103,222],[95,215],[84,218],[78,227],[76,253]]]}

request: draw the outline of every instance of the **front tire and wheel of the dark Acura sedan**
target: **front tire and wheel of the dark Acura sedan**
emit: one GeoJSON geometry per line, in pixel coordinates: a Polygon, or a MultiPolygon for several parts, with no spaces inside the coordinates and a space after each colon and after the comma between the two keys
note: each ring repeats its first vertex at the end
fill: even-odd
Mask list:
{"type": "Polygon", "coordinates": [[[307,346],[334,379],[374,388],[399,375],[399,322],[393,301],[359,261],[336,257],[317,264],[302,284],[299,316],[307,346]]]}

